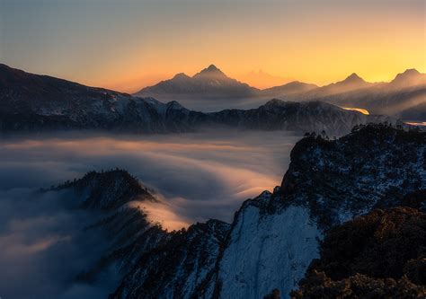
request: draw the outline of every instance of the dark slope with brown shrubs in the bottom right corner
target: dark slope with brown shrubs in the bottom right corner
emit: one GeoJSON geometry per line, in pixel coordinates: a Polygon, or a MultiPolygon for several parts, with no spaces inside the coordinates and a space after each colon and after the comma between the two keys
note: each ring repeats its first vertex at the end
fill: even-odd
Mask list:
{"type": "Polygon", "coordinates": [[[426,296],[426,214],[374,210],[334,227],[293,298],[426,296]]]}

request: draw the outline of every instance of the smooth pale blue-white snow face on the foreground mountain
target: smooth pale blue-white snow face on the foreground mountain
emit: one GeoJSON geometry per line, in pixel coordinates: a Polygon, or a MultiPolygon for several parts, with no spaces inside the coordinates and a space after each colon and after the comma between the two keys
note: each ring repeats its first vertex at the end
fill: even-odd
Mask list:
{"type": "Polygon", "coordinates": [[[274,288],[286,296],[319,256],[321,238],[306,207],[290,206],[276,215],[245,207],[220,262],[220,297],[262,298],[274,288]]]}

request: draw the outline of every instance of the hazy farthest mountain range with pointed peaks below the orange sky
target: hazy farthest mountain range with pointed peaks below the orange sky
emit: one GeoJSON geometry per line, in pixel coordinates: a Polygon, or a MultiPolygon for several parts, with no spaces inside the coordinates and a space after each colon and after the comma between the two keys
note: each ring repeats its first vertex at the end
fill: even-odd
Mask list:
{"type": "Polygon", "coordinates": [[[407,120],[426,119],[426,75],[407,69],[389,83],[368,83],[357,74],[317,86],[290,82],[258,90],[227,77],[216,66],[209,66],[192,77],[174,76],[135,93],[160,101],[178,100],[195,110],[253,108],[268,98],[287,101],[327,101],[341,107],[360,108],[372,114],[386,114],[407,120]]]}

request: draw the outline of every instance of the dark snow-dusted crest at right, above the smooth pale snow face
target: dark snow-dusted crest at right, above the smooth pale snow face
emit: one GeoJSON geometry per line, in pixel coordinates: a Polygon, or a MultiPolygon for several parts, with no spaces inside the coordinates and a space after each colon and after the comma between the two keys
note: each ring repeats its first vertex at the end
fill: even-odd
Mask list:
{"type": "Polygon", "coordinates": [[[425,189],[425,147],[425,133],[386,125],[355,128],[334,141],[309,136],[291,152],[281,193],[310,207],[324,227],[340,224],[425,189]]]}

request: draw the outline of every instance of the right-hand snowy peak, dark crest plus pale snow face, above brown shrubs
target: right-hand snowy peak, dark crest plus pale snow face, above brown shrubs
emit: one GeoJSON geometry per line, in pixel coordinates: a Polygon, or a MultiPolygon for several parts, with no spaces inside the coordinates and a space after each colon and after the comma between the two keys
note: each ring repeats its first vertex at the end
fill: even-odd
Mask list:
{"type": "Polygon", "coordinates": [[[275,288],[287,295],[317,257],[327,228],[373,207],[400,206],[425,189],[425,138],[369,126],[336,141],[300,141],[281,187],[235,216],[218,262],[217,295],[259,297],[275,288]]]}

